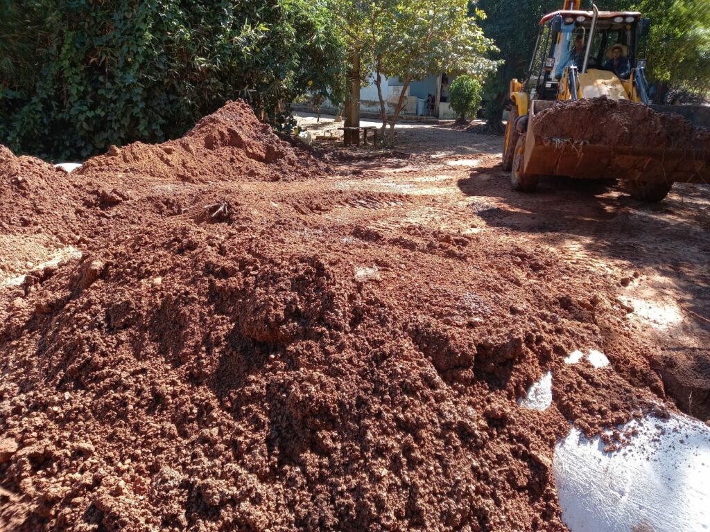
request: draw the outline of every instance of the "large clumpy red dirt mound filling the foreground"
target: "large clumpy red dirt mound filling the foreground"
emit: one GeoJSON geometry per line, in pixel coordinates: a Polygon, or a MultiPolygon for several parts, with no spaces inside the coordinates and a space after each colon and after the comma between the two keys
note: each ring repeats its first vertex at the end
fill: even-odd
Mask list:
{"type": "Polygon", "coordinates": [[[606,313],[517,287],[491,243],[420,233],[403,260],[359,228],[308,242],[278,221],[251,237],[156,223],[42,280],[4,323],[17,449],[0,470],[18,500],[0,515],[16,530],[559,530],[556,438],[652,408],[562,362],[606,313]],[[478,273],[452,278],[457,263],[478,273]],[[555,404],[520,409],[546,370],[555,404]]]}

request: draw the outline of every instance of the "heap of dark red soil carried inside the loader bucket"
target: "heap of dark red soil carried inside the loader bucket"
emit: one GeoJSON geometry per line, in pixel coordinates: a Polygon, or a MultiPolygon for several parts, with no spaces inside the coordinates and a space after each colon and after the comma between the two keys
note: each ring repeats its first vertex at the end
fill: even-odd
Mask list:
{"type": "Polygon", "coordinates": [[[710,152],[710,130],[682,116],[606,97],[564,101],[535,115],[535,134],[591,144],[710,152]]]}

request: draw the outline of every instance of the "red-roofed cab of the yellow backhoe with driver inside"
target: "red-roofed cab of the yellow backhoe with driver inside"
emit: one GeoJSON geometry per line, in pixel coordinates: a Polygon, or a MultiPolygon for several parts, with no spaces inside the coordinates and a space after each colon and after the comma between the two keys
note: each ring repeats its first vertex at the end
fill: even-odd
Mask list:
{"type": "Polygon", "coordinates": [[[645,60],[638,57],[648,28],[648,18],[638,11],[548,13],[540,20],[525,92],[531,100],[609,96],[648,103],[645,60]],[[617,72],[610,67],[614,48],[617,67],[624,67],[617,72]]]}

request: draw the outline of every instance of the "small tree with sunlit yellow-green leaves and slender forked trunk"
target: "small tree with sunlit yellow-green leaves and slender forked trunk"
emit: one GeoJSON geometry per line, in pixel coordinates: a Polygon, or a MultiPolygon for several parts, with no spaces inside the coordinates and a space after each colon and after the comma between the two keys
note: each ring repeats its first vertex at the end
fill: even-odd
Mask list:
{"type": "MultiPolygon", "coordinates": [[[[486,57],[494,50],[478,22],[483,11],[468,12],[468,0],[400,0],[388,12],[387,31],[381,35],[381,60],[376,74],[398,77],[402,92],[395,104],[391,121],[390,143],[394,128],[405,106],[411,82],[431,74],[469,74],[482,78],[494,70],[497,62],[486,57]]],[[[382,92],[380,106],[383,107],[382,92]]],[[[383,123],[383,128],[386,123],[383,123]]]]}

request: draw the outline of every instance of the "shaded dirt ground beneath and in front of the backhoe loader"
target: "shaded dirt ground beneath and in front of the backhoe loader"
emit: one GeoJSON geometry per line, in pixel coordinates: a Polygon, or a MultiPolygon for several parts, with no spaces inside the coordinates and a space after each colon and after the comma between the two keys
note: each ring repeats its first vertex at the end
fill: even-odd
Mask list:
{"type": "Polygon", "coordinates": [[[677,184],[662,203],[643,204],[594,182],[548,178],[537,194],[523,195],[493,168],[474,170],[459,189],[490,202],[474,207],[489,228],[541,243],[618,283],[628,334],[660,348],[650,356],[667,393],[688,414],[710,417],[707,186],[677,184]]]}

